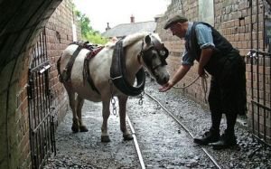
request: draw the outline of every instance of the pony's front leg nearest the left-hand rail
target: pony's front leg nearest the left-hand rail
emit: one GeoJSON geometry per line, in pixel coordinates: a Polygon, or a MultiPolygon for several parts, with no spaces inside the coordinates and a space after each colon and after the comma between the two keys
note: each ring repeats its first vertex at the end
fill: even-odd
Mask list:
{"type": "Polygon", "coordinates": [[[126,96],[119,96],[118,99],[118,106],[119,106],[119,122],[120,122],[120,130],[123,133],[124,140],[132,140],[133,136],[127,130],[126,127],[126,103],[128,97],[126,96]]]}

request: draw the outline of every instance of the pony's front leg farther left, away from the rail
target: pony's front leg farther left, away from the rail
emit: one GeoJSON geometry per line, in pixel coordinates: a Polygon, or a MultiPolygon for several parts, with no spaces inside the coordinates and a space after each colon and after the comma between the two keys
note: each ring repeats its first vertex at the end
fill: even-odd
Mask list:
{"type": "Polygon", "coordinates": [[[101,127],[101,142],[110,142],[110,138],[109,138],[109,135],[107,132],[107,120],[110,115],[109,103],[110,103],[110,99],[102,101],[102,104],[103,104],[103,110],[102,110],[103,124],[101,127]]]}

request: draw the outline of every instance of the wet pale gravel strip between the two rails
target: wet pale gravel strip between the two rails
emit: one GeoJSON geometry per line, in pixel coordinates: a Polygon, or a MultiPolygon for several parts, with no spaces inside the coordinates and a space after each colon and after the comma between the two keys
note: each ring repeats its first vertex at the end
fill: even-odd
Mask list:
{"type": "MultiPolygon", "coordinates": [[[[130,103],[135,101],[131,99],[130,103]]],[[[129,104],[128,109],[146,168],[214,168],[207,155],[160,105],[147,97],[144,105],[129,104]]]]}

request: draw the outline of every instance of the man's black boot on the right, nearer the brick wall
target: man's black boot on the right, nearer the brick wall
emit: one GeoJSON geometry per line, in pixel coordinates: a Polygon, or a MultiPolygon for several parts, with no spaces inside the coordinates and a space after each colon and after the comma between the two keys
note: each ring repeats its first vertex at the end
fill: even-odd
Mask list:
{"type": "Polygon", "coordinates": [[[234,133],[227,133],[225,132],[221,137],[220,140],[216,143],[212,144],[212,148],[214,150],[226,149],[231,146],[236,146],[237,140],[234,133]]]}

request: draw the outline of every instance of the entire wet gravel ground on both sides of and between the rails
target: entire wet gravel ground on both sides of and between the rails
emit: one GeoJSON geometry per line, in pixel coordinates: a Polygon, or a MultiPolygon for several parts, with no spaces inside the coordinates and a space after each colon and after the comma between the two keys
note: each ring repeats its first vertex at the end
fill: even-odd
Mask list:
{"type": "MultiPolygon", "coordinates": [[[[208,110],[182,96],[179,89],[161,93],[158,88],[146,80],[145,91],[179,117],[193,136],[201,136],[209,129],[208,110]]],[[[135,127],[146,168],[214,168],[201,147],[193,144],[192,137],[166,115],[163,108],[146,95],[143,101],[140,106],[138,98],[129,99],[127,114],[135,127]]],[[[86,101],[82,112],[89,132],[72,133],[69,112],[56,132],[57,155],[51,155],[44,168],[140,168],[134,142],[123,141],[117,116],[111,115],[108,119],[111,142],[101,143],[101,104],[86,101]]],[[[225,127],[223,119],[221,131],[225,127]]],[[[265,149],[254,140],[246,126],[238,124],[236,135],[238,147],[220,151],[204,147],[222,168],[271,168],[269,147],[265,149]]]]}

